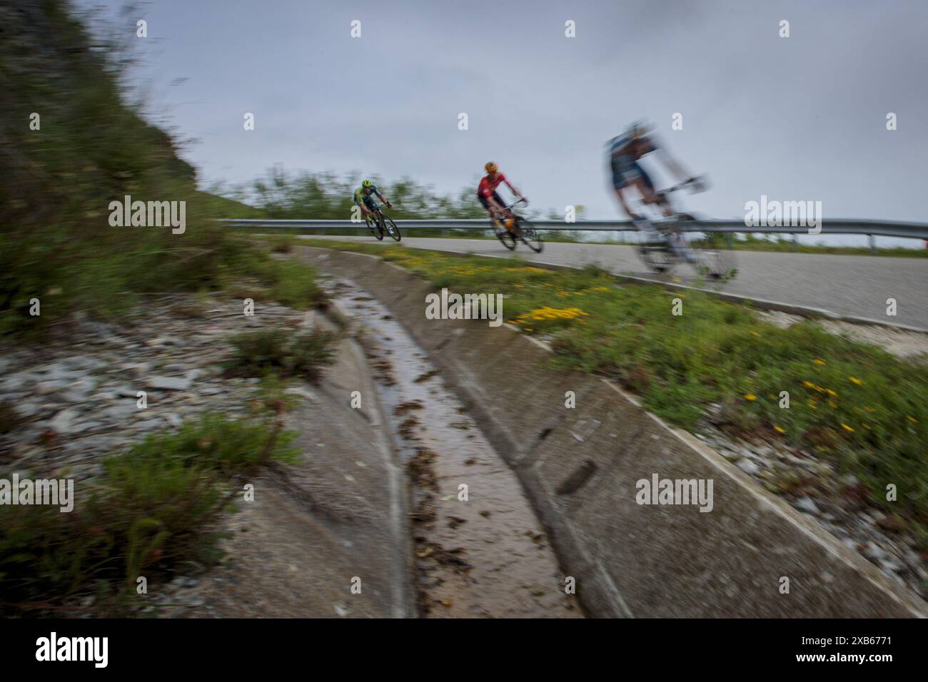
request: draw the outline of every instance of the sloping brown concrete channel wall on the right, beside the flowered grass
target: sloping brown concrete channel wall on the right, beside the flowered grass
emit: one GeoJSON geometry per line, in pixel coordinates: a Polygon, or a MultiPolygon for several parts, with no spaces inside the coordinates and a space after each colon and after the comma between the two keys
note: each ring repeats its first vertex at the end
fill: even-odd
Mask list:
{"type": "Polygon", "coordinates": [[[393,264],[298,253],[376,295],[442,369],[445,386],[519,476],[589,615],[926,615],[916,595],[609,381],[552,369],[548,349],[514,329],[427,320],[430,285],[393,264]],[[567,391],[574,409],[565,408],[567,391]],[[636,483],[655,477],[711,481],[711,510],[638,504],[636,483]]]}

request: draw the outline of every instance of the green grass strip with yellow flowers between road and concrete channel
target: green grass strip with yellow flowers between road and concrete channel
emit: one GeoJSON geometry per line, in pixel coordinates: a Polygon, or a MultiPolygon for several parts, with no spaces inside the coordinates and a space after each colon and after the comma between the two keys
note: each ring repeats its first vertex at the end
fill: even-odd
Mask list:
{"type": "Polygon", "coordinates": [[[855,475],[870,503],[904,517],[928,547],[922,363],[833,335],[815,321],[779,328],[747,306],[701,291],[624,284],[596,267],[554,272],[402,247],[322,245],[380,255],[436,289],[504,293],[507,321],[550,341],[557,365],[610,377],[691,430],[707,405],[722,405],[729,431],[807,449],[855,475]],[[673,315],[677,298],[682,315],[673,315]],[[789,408],[780,407],[782,392],[789,408]],[[889,484],[896,502],[886,500],[889,484]]]}

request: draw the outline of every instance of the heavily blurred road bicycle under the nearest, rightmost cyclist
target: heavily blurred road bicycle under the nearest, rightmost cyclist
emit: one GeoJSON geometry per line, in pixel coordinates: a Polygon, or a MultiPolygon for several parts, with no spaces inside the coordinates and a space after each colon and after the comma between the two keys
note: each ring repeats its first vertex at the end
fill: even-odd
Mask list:
{"type": "Polygon", "coordinates": [[[713,279],[730,279],[735,277],[734,254],[715,248],[698,246],[687,235],[686,224],[698,220],[690,213],[679,212],[672,202],[674,193],[682,189],[699,192],[703,189],[699,178],[690,178],[674,187],[661,192],[661,206],[670,210],[669,216],[662,215],[659,220],[642,217],[635,221],[638,227],[638,254],[651,272],[669,273],[676,264],[686,262],[702,276],[713,279]]]}

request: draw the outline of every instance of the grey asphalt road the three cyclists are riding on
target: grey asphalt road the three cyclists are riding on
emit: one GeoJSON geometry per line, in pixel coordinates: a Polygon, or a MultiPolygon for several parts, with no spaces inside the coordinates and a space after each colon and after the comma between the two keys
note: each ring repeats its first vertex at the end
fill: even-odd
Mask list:
{"type": "MultiPolygon", "coordinates": [[[[369,237],[326,237],[376,244],[369,237]]],[[[520,256],[561,265],[598,264],[612,273],[659,280],[638,260],[634,247],[551,242],[533,253],[520,244],[506,251],[496,240],[403,238],[415,249],[471,251],[485,256],[520,256]]],[[[838,315],[880,320],[928,330],[928,259],[734,251],[739,275],[719,289],[740,296],[820,308],[838,315]],[[896,315],[887,315],[887,299],[896,299],[896,315]]],[[[677,265],[673,281],[693,284],[689,265],[677,265]]]]}

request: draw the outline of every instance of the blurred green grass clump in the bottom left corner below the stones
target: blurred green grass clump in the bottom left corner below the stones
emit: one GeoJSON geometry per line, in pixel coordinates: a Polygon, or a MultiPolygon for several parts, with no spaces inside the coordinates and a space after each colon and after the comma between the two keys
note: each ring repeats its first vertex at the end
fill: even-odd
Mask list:
{"type": "Polygon", "coordinates": [[[150,435],[104,460],[74,486],[74,509],[5,507],[0,526],[0,613],[124,615],[136,579],[149,585],[190,562],[220,558],[220,517],[260,467],[292,462],[294,435],[275,418],[207,413],[175,433],[150,435]],[[95,596],[93,609],[73,606],[95,596]]]}

